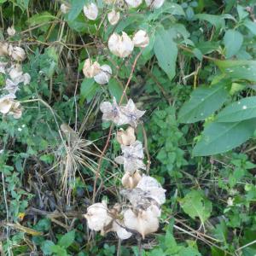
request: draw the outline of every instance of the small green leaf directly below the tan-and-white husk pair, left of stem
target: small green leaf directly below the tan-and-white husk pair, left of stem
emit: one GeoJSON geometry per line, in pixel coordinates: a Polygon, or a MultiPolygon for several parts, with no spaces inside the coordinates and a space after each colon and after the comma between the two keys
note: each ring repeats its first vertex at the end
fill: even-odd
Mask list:
{"type": "Polygon", "coordinates": [[[86,99],[87,102],[96,95],[96,91],[99,89],[99,85],[96,84],[94,79],[84,79],[83,83],[81,84],[80,89],[80,104],[83,104],[84,100],[86,99]]]}

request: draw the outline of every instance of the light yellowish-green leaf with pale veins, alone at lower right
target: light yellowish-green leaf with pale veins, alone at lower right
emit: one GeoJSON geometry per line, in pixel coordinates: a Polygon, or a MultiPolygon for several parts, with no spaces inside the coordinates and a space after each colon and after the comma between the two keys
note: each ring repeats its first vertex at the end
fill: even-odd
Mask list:
{"type": "Polygon", "coordinates": [[[180,205],[191,218],[198,217],[201,222],[205,222],[212,212],[212,202],[200,190],[191,190],[180,200],[180,205]]]}

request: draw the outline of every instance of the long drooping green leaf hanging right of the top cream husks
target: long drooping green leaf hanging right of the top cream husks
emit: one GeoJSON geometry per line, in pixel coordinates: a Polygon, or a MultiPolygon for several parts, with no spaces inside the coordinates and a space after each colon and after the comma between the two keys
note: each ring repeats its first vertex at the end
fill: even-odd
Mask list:
{"type": "Polygon", "coordinates": [[[164,29],[156,32],[154,54],[159,66],[166,72],[170,80],[176,73],[177,44],[172,40],[172,34],[164,29]]]}

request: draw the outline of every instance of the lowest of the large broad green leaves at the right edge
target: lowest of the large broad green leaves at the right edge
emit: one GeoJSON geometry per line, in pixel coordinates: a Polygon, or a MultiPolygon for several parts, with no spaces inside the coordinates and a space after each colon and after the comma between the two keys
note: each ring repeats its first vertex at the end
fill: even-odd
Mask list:
{"type": "Polygon", "coordinates": [[[202,132],[201,140],[193,149],[194,156],[220,154],[245,143],[256,129],[256,119],[235,123],[213,122],[202,132]]]}

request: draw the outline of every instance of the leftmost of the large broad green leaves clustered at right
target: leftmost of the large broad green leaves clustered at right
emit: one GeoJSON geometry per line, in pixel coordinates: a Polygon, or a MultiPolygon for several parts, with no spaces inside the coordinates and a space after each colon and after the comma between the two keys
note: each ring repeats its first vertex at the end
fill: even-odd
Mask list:
{"type": "Polygon", "coordinates": [[[189,102],[185,102],[178,113],[181,123],[195,123],[206,119],[218,110],[229,96],[224,81],[212,84],[210,87],[201,86],[191,94],[189,102]]]}

